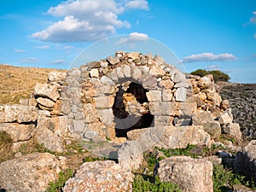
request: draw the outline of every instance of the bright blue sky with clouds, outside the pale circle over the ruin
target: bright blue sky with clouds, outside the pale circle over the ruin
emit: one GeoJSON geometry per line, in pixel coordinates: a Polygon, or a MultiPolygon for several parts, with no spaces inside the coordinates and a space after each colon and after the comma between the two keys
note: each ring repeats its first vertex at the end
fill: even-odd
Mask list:
{"type": "Polygon", "coordinates": [[[255,0],[1,0],[0,7],[0,63],[67,69],[96,41],[126,34],[120,39],[165,44],[187,72],[220,69],[232,82],[256,83],[255,0]]]}

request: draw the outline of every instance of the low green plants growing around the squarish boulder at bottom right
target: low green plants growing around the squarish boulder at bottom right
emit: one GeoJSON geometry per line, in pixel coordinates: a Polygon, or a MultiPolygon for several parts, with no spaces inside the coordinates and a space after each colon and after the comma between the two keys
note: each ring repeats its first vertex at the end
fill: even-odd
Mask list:
{"type": "MultiPolygon", "coordinates": [[[[211,148],[202,148],[195,145],[188,145],[186,148],[154,148],[145,152],[145,164],[142,172],[137,173],[133,182],[134,191],[181,191],[175,183],[161,183],[159,177],[154,175],[154,166],[160,160],[171,156],[184,155],[193,158],[207,157],[216,154],[218,150],[224,149],[221,146],[212,145],[211,148]],[[148,170],[144,174],[143,170],[148,170]]],[[[247,181],[232,170],[233,167],[224,165],[214,165],[212,172],[212,182],[214,192],[227,192],[235,184],[242,184],[251,189],[256,189],[253,181],[247,181]]]]}

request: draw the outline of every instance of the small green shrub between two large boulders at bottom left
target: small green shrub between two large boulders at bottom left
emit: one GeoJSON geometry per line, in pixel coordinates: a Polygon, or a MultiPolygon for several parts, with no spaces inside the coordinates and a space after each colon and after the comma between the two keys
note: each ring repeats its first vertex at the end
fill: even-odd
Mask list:
{"type": "Polygon", "coordinates": [[[55,182],[50,182],[45,192],[61,192],[69,178],[73,177],[73,170],[67,169],[59,173],[59,178],[55,182]]]}

